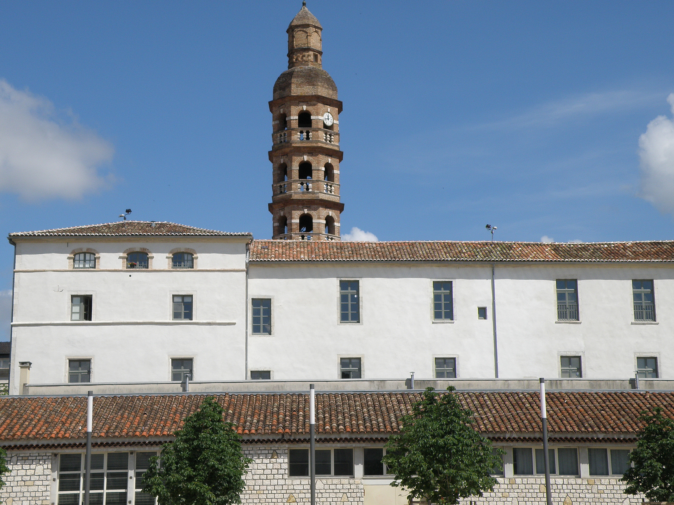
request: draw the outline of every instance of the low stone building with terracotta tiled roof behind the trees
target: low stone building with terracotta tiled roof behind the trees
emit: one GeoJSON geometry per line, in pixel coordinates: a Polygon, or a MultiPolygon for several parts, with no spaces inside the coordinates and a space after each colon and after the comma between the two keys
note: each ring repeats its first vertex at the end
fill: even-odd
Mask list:
{"type": "MultiPolygon", "coordinates": [[[[502,469],[494,470],[495,490],[471,500],[543,502],[539,393],[454,394],[472,411],[474,429],[505,450],[502,469]]],[[[148,457],[173,440],[185,417],[205,397],[189,393],[95,397],[94,478],[109,480],[94,492],[105,493],[106,500],[154,503],[140,492],[138,483],[148,457]],[[123,479],[115,480],[120,475],[123,479]]],[[[242,503],[307,501],[308,395],[251,393],[214,395],[214,399],[224,410],[223,420],[241,435],[243,452],[252,459],[242,503]]],[[[419,399],[419,391],[317,393],[317,459],[330,462],[318,467],[320,503],[404,502],[404,494],[389,485],[392,475],[387,475],[381,457],[388,438],[400,430],[400,418],[419,399]]],[[[619,478],[642,429],[639,415],[654,407],[674,416],[674,393],[547,393],[553,502],[640,503],[641,496],[622,493],[625,485],[619,478]]],[[[9,451],[9,466],[14,470],[0,499],[24,503],[21,499],[30,491],[31,503],[77,502],[82,486],[73,481],[82,481],[85,427],[84,396],[0,398],[0,446],[9,451]]]]}

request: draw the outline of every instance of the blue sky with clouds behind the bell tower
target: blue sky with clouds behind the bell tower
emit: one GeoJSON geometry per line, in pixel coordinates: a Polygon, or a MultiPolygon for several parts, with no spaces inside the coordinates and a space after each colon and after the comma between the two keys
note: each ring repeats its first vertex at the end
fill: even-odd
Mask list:
{"type": "MultiPolygon", "coordinates": [[[[3,232],[130,207],[270,238],[267,102],[300,7],[3,3],[3,232]]],[[[673,238],[673,2],[307,7],[344,102],[343,232],[481,240],[491,223],[497,240],[673,238]]],[[[0,315],[12,253],[0,247],[0,315]]]]}

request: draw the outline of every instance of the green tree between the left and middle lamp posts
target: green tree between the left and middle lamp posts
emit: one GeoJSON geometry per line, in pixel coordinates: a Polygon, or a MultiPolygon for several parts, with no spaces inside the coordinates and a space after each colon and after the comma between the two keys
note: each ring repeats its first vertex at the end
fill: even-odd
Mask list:
{"type": "Polygon", "coordinates": [[[185,419],[175,436],[162,447],[160,459],[150,459],[143,492],[156,496],[159,505],[241,503],[251,460],[243,457],[241,437],[223,422],[222,407],[213,397],[185,419]]]}

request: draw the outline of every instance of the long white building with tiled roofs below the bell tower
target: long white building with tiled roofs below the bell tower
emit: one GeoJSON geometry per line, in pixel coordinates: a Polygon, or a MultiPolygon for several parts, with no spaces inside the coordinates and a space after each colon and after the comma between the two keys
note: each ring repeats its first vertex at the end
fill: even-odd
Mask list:
{"type": "Polygon", "coordinates": [[[204,391],[412,371],[674,379],[674,242],[252,240],[134,221],[9,240],[15,395],[176,391],[185,374],[204,391]]]}

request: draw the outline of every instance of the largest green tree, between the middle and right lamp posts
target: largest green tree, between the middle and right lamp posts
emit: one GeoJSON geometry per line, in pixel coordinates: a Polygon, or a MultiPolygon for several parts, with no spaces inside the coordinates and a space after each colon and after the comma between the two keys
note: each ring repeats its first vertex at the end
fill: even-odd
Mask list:
{"type": "Polygon", "coordinates": [[[447,391],[426,389],[412,413],[400,419],[400,435],[390,437],[384,456],[396,476],[391,485],[443,505],[492,491],[497,481],[490,473],[505,454],[472,428],[473,413],[461,407],[454,387],[447,391]]]}

